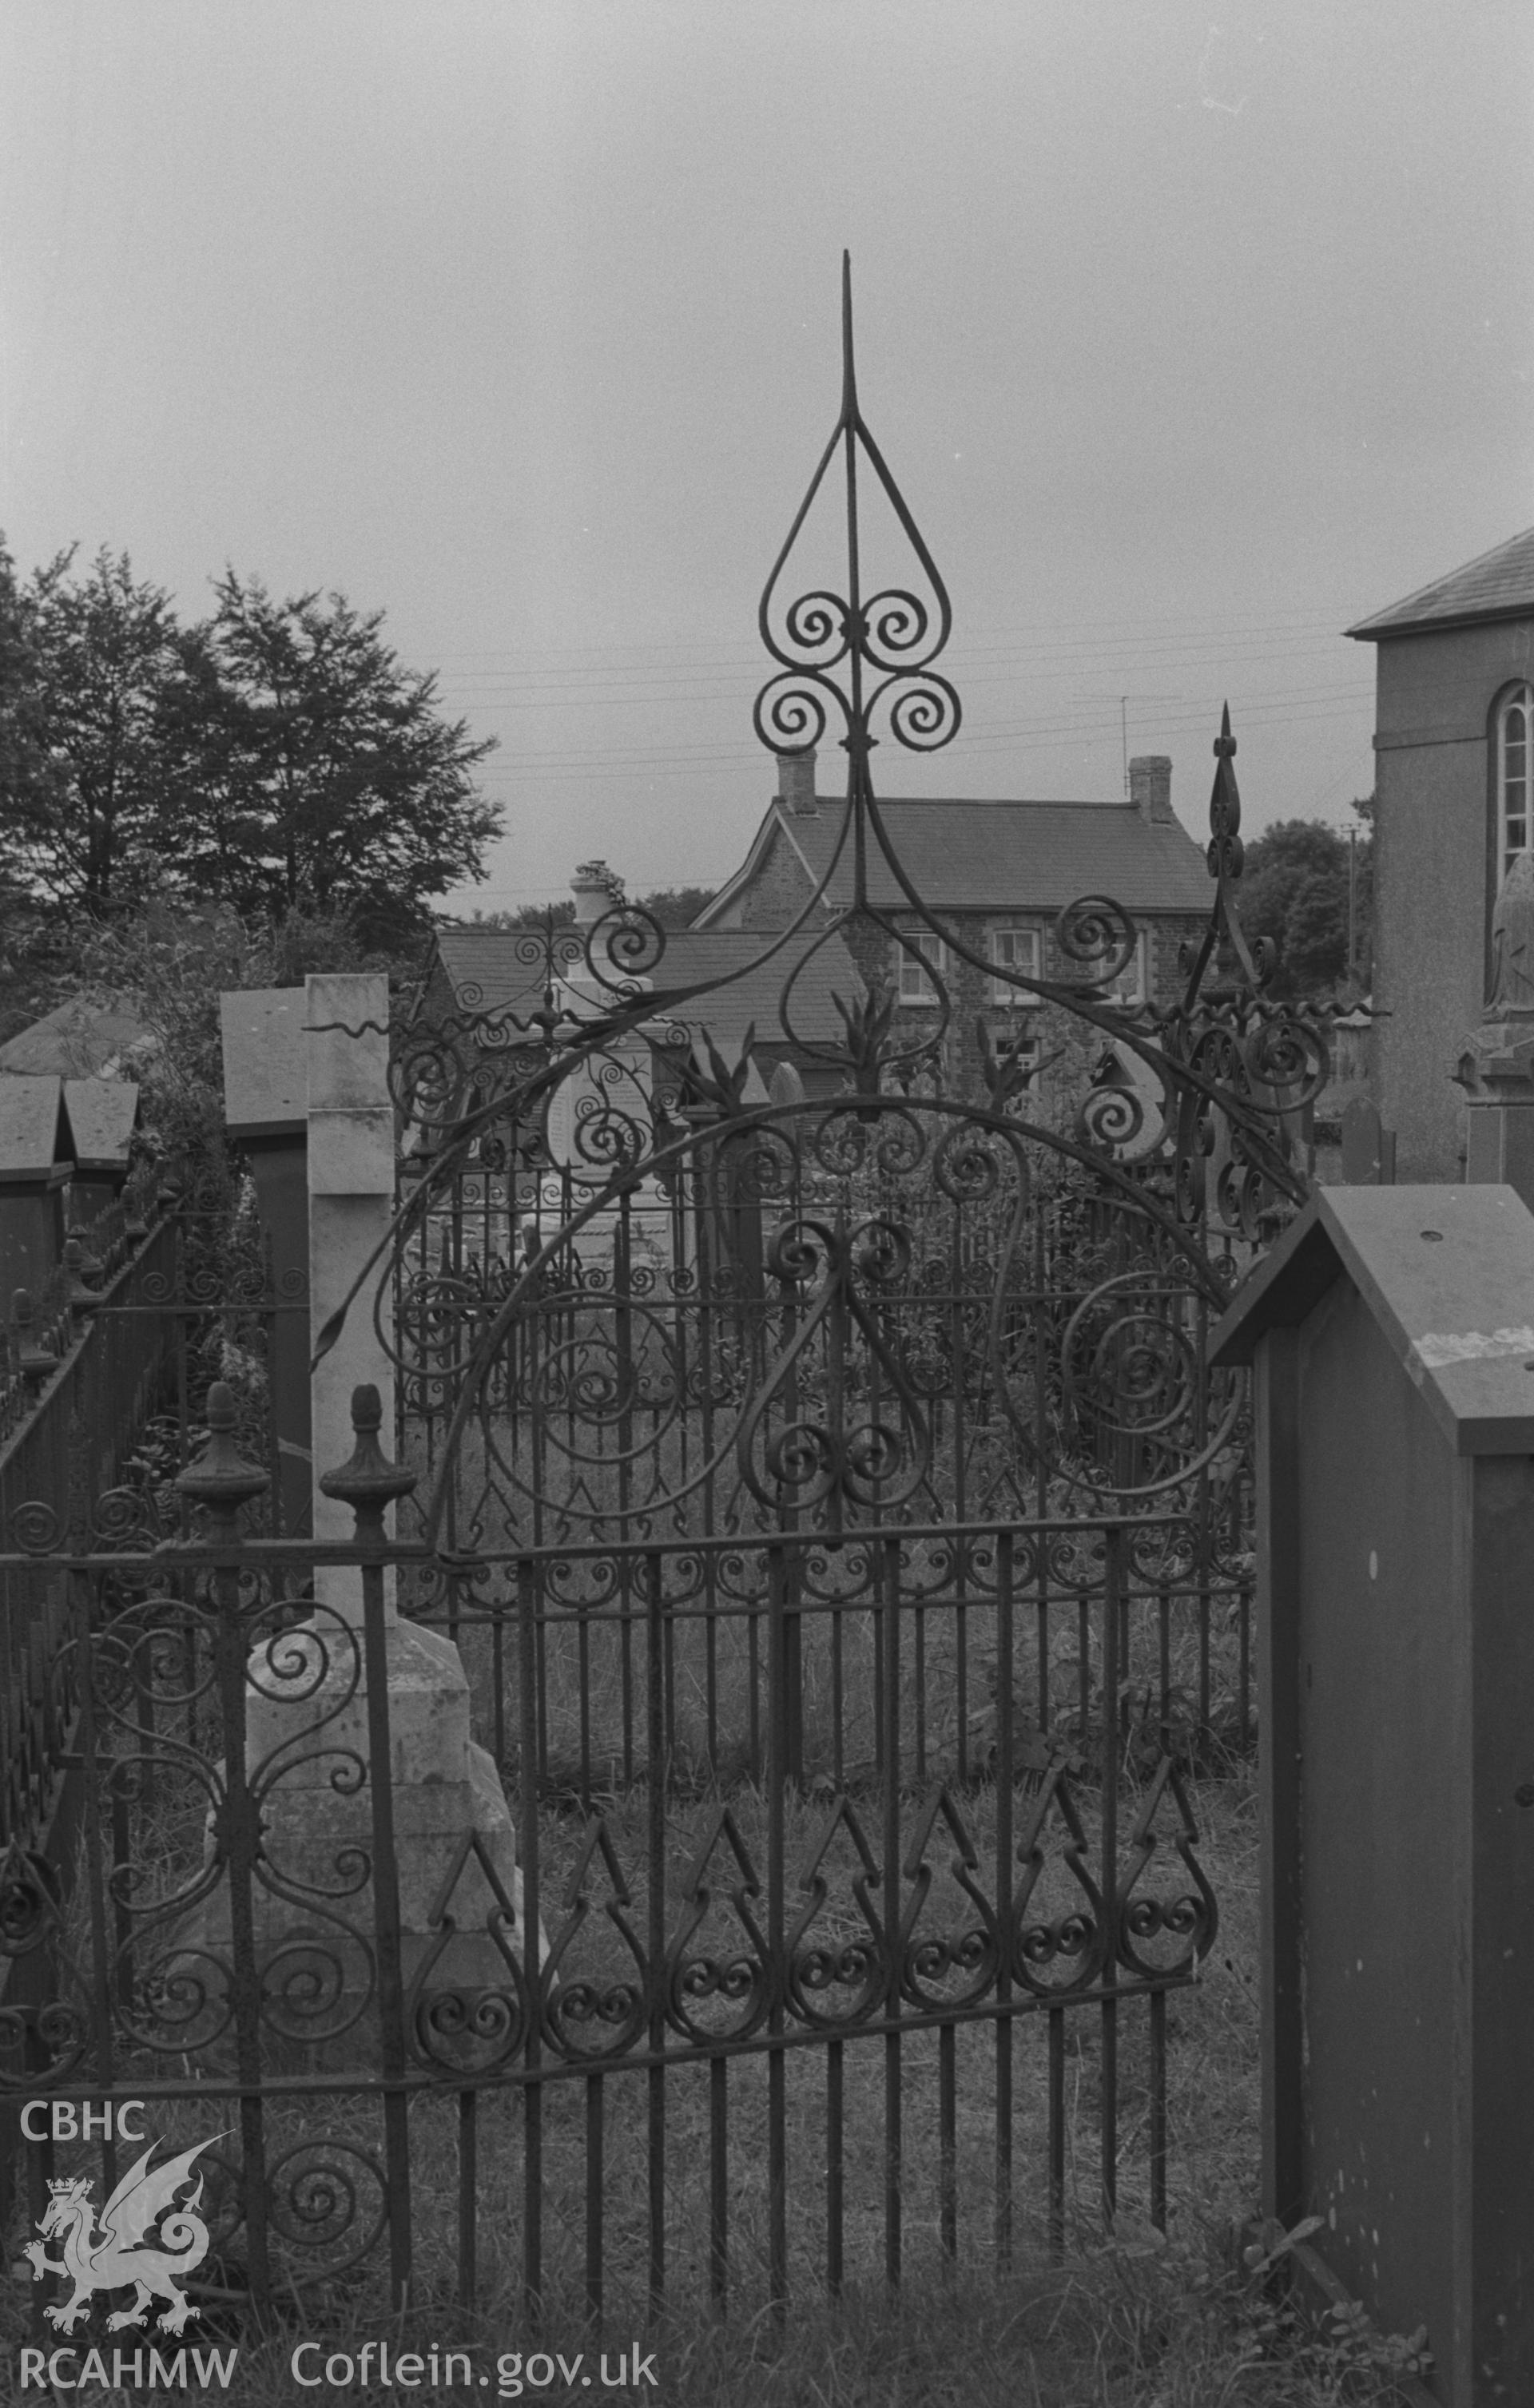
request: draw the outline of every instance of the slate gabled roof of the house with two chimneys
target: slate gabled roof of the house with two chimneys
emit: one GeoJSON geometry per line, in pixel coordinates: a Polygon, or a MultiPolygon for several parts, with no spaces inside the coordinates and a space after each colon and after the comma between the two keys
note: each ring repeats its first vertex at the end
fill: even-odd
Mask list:
{"type": "MultiPolygon", "coordinates": [[[[756,831],[747,869],[698,915],[706,927],[761,860],[773,828],[821,879],[840,836],[845,804],[787,811],[773,802],[756,831]]],[[[901,797],[879,802],[879,819],[920,898],[942,910],[1062,910],[1076,896],[1113,896],[1129,913],[1209,910],[1209,869],[1187,828],[1175,819],[1149,821],[1132,802],[949,802],[901,797]]],[[[850,845],[836,864],[826,901],[852,901],[850,845]]],[[[905,896],[869,838],[869,901],[905,910],[905,896]]]]}

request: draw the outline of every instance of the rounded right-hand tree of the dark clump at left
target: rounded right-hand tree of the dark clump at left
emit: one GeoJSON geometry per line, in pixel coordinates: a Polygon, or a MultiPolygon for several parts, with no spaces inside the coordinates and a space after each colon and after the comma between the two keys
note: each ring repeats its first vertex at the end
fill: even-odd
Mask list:
{"type": "Polygon", "coordinates": [[[426,925],[426,901],[484,874],[498,809],[472,771],[494,737],[443,720],[383,612],[344,595],[275,602],[229,571],[183,653],[181,701],[205,778],[181,787],[193,874],[238,910],[354,913],[373,937],[426,925]]]}

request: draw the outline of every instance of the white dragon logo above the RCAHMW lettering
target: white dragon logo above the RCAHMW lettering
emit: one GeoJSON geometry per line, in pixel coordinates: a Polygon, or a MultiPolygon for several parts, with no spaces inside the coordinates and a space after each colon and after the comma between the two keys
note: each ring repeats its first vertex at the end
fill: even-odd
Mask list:
{"type": "MultiPolygon", "coordinates": [[[[214,2133],[222,2138],[222,2133],[214,2133]]],[[[92,2237],[92,2225],[96,2223],[96,2203],[89,2196],[92,2177],[75,2174],[65,2182],[51,2182],[48,2213],[39,2223],[41,2242],[26,2242],[24,2256],[31,2259],[31,2280],[41,2283],[46,2273],[63,2273],[72,2280],[75,2292],[63,2307],[46,2307],[43,2314],[48,2324],[55,2324],[60,2333],[72,2333],[82,2316],[92,2312],[94,2290],[123,2290],[123,2285],[135,2283],[137,2292],[132,2307],[123,2307],[116,2316],[106,2319],[106,2331],[116,2333],[125,2324],[147,2324],[147,2309],[152,2300],[164,2300],[166,2312],[159,2316],[161,2333],[183,2333],[188,2316],[197,2309],[190,2304],[183,2290],[176,2288],[176,2276],[188,2276],[193,2266],[200,2266],[207,2256],[207,2225],[195,2213],[202,2201],[202,2174],[197,2174],[197,2189],[166,2215],[159,2239],[161,2247],[144,2249],[144,2235],[154,2230],[154,2223],[193,2179],[193,2158],[197,2158],[207,2141],[197,2141],[197,2148],[185,2148],[178,2158],[166,2158],[164,2165],[149,2170],[149,2158],[157,2143],[152,2141],[144,2155],[132,2165],[116,2191],[101,2208],[101,2232],[92,2237]],[[55,2232],[63,2232],[63,2259],[51,2259],[43,2242],[55,2232]]]]}

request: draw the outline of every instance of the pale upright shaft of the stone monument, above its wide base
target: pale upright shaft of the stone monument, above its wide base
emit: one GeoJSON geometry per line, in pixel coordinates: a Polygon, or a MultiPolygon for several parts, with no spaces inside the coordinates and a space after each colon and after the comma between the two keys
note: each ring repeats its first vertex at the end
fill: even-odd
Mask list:
{"type": "MultiPolygon", "coordinates": [[[[318,1474],[352,1454],[352,1392],[376,1387],[383,1428],[395,1428],[395,1365],[378,1336],[393,1339],[388,1230],[395,1209],[395,1108],[388,1091],[388,978],[340,970],[306,982],[308,1047],[308,1329],[318,1351],[368,1262],[347,1320],[311,1368],[311,1447],[315,1464],[313,1534],[349,1539],[352,1512],[323,1495],[318,1474]],[[383,1293],[378,1283],[383,1281],[383,1293]]],[[[390,1524],[393,1527],[393,1524],[390,1524]]],[[[361,1621],[361,1572],[315,1568],[320,1604],[361,1621]]],[[[393,1580],[388,1599],[395,1613],[393,1580]]]]}

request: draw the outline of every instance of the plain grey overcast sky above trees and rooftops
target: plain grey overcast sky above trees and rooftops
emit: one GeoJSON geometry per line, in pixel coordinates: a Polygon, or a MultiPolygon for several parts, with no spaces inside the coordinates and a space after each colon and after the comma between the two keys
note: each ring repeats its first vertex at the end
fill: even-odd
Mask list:
{"type": "Polygon", "coordinates": [[[877,785],[1113,797],[1127,725],[1202,831],[1228,694],[1247,826],[1341,821],[1341,628],[1534,520],[1532,53],[1529,0],[7,0],[0,525],[380,607],[501,739],[462,903],[718,881],[848,246],[966,703],[877,785]]]}

